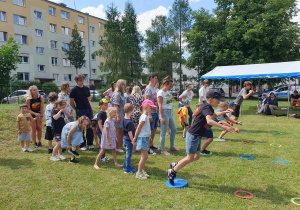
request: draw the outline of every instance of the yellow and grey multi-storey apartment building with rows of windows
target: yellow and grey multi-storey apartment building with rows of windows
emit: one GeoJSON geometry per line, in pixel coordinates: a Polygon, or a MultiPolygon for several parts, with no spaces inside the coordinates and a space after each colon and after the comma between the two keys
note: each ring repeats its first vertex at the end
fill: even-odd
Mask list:
{"type": "Polygon", "coordinates": [[[22,63],[17,74],[20,81],[53,81],[58,86],[70,82],[75,86],[75,68],[62,48],[69,48],[74,24],[77,24],[86,56],[78,73],[86,75],[86,83],[100,80],[98,66],[105,60],[91,54],[100,49],[105,20],[47,0],[0,0],[0,46],[12,36],[20,43],[22,63]]]}

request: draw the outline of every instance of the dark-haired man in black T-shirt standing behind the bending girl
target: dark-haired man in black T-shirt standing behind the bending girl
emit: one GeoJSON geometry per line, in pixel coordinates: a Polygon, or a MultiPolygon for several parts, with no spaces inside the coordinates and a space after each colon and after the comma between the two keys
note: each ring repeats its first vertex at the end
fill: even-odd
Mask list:
{"type": "MultiPolygon", "coordinates": [[[[84,86],[84,75],[78,74],[75,76],[77,86],[70,91],[70,105],[76,110],[76,119],[85,115],[90,120],[93,119],[93,110],[90,105],[91,95],[90,89],[84,86]],[[74,101],[76,105],[74,104],[74,101]]],[[[87,146],[90,149],[94,149],[93,146],[93,130],[91,128],[86,129],[87,146]]],[[[83,132],[84,142],[80,145],[81,150],[86,150],[86,139],[83,132]]]]}

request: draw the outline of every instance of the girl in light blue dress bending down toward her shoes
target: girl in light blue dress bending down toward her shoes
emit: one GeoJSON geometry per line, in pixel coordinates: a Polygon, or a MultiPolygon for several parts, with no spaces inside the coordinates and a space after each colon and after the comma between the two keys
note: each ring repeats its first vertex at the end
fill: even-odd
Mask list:
{"type": "Polygon", "coordinates": [[[89,118],[83,115],[77,121],[66,124],[61,132],[61,147],[67,147],[68,152],[72,154],[70,163],[79,163],[75,160],[75,156],[79,156],[76,150],[83,142],[82,132],[89,124],[89,118]]]}

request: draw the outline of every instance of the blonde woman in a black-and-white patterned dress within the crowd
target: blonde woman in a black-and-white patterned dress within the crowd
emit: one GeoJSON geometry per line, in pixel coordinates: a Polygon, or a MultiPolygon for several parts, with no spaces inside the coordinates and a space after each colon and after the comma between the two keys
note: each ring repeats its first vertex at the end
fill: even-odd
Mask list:
{"type": "Polygon", "coordinates": [[[139,86],[134,86],[131,92],[131,95],[127,99],[127,103],[130,103],[134,106],[133,114],[131,115],[131,120],[134,123],[134,127],[137,128],[140,120],[140,116],[142,115],[140,108],[144,101],[144,97],[142,96],[142,91],[139,86]]]}

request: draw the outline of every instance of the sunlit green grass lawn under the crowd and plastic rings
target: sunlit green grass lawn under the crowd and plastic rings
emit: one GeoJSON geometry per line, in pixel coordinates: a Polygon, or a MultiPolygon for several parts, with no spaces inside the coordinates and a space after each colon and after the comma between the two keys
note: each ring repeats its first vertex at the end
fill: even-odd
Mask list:
{"type": "MultiPolygon", "coordinates": [[[[287,102],[279,103],[287,107],[287,102]]],[[[151,177],[138,180],[116,168],[113,161],[100,162],[101,169],[95,170],[96,151],[79,151],[77,165],[67,160],[50,161],[44,139],[43,148],[22,152],[16,130],[18,105],[0,105],[0,209],[297,209],[299,206],[290,200],[300,197],[300,120],[256,115],[256,104],[256,100],[247,100],[242,106],[239,121],[244,125],[239,127],[249,133],[227,134],[226,142],[212,142],[208,147],[212,156],[201,156],[178,172],[178,178],[188,181],[184,189],[165,186],[169,163],[186,156],[182,128],[178,128],[175,139],[180,151],[170,156],[149,156],[146,171],[151,177]],[[253,144],[243,144],[242,140],[253,144]],[[271,143],[282,146],[272,147],[271,143]],[[243,160],[240,155],[252,155],[254,159],[243,160]],[[278,164],[274,159],[289,163],[278,164]],[[235,197],[237,190],[249,191],[254,197],[235,197]]],[[[179,127],[177,105],[173,103],[179,127]]],[[[97,103],[94,108],[97,110],[97,103]]],[[[218,137],[221,130],[213,131],[218,137]]],[[[168,137],[166,146],[169,148],[168,137]]],[[[119,163],[124,156],[118,153],[119,163]]],[[[107,157],[112,159],[110,151],[107,157]]],[[[139,158],[140,153],[133,154],[132,166],[137,167],[139,158]]]]}

